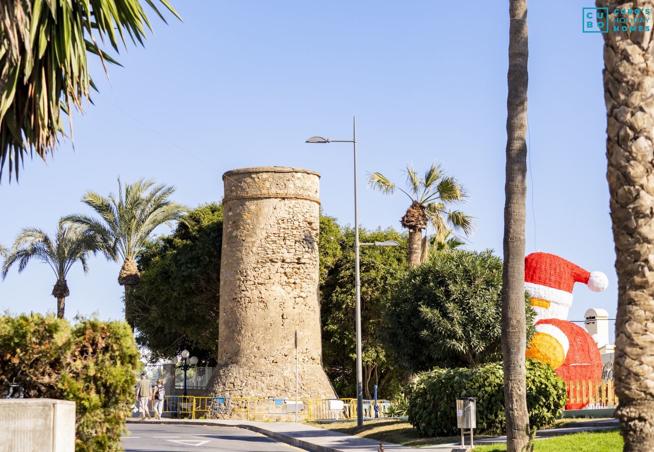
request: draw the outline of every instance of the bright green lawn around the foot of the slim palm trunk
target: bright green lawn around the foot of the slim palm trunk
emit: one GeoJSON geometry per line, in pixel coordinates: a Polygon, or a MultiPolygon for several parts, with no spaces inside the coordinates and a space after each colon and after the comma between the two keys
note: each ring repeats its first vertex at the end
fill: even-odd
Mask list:
{"type": "MultiPolygon", "coordinates": [[[[555,436],[546,440],[536,440],[534,452],[621,452],[622,436],[618,430],[604,432],[583,432],[572,435],[555,436]]],[[[506,444],[481,445],[475,447],[475,452],[506,451],[506,444]]]]}

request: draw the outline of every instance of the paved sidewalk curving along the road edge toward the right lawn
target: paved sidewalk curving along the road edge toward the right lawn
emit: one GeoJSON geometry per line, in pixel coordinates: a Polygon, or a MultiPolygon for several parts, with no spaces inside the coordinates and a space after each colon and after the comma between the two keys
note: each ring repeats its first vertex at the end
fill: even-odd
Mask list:
{"type": "MultiPolygon", "coordinates": [[[[220,427],[238,427],[262,433],[272,438],[277,438],[288,444],[303,447],[315,452],[377,452],[379,444],[384,445],[385,452],[399,451],[428,451],[428,452],[452,452],[458,450],[456,444],[439,444],[425,447],[406,447],[404,445],[391,444],[360,436],[350,436],[344,433],[325,430],[324,428],[312,427],[303,423],[292,422],[254,422],[254,421],[230,421],[217,419],[160,419],[140,421],[128,419],[128,423],[152,423],[152,424],[193,424],[193,425],[216,425],[220,427]]],[[[616,428],[617,419],[608,421],[589,421],[571,423],[569,427],[549,428],[540,430],[536,435],[537,439],[549,438],[551,436],[572,434],[577,432],[589,432],[603,430],[605,428],[616,428]]],[[[468,438],[466,437],[466,440],[468,438]]],[[[506,436],[475,440],[475,444],[492,444],[506,442],[506,436]]]]}

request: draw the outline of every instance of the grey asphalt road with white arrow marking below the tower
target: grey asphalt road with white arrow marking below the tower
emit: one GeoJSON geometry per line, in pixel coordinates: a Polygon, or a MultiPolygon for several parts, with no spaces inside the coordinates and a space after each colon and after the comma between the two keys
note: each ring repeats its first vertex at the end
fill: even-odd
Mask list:
{"type": "Polygon", "coordinates": [[[257,432],[236,427],[201,425],[127,425],[123,436],[126,452],[145,451],[225,451],[225,452],[297,452],[304,451],[257,432]]]}

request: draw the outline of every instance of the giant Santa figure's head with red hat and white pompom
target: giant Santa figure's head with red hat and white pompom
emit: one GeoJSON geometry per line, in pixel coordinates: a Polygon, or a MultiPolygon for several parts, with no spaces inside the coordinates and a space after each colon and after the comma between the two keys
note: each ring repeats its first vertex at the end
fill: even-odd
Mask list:
{"type": "Polygon", "coordinates": [[[608,286],[604,273],[589,272],[557,255],[532,253],[525,257],[525,289],[532,297],[532,306],[545,310],[537,310],[538,319],[566,319],[576,282],[588,285],[594,292],[608,286]]]}

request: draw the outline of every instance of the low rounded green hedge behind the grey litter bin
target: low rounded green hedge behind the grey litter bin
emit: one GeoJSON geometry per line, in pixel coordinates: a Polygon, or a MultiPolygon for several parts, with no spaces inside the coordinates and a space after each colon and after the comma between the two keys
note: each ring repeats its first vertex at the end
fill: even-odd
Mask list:
{"type": "MultiPolygon", "coordinates": [[[[566,404],[566,385],[554,370],[539,361],[526,360],[527,408],[531,427],[545,427],[559,418],[566,404]]],[[[449,436],[456,428],[456,398],[477,398],[479,434],[502,434],[504,371],[502,363],[477,368],[436,368],[420,374],[409,387],[409,423],[422,436],[449,436]]]]}

